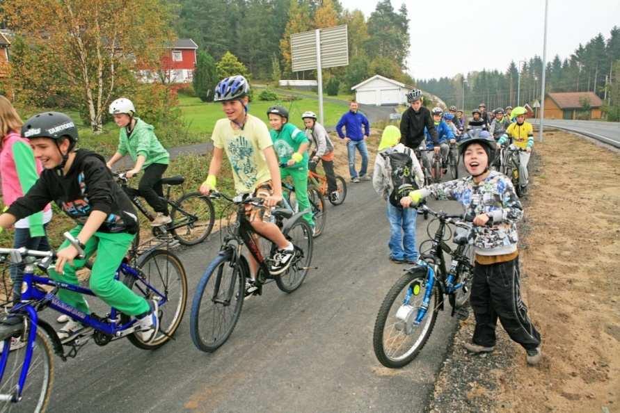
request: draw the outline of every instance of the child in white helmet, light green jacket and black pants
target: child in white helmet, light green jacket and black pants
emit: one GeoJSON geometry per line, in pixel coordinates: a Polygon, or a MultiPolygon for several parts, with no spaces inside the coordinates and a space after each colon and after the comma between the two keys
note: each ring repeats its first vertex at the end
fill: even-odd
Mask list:
{"type": "Polygon", "coordinates": [[[168,204],[162,199],[164,189],[160,181],[170,163],[170,154],[157,140],[153,127],[134,116],[136,108],[132,101],[120,97],[110,104],[109,112],[114,116],[120,132],[118,149],[108,161],[108,168],[112,169],[112,165],[129,154],[136,165],[125,176],[131,178],[144,172],[138,184],[138,192],[157,213],[151,225],[159,227],[169,224],[172,219],[168,214],[168,204]]]}

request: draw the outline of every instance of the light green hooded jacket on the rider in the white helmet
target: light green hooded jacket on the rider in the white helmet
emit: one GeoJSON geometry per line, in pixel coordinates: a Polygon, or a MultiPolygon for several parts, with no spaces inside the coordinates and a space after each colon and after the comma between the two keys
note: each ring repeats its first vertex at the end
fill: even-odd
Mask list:
{"type": "Polygon", "coordinates": [[[170,162],[170,154],[164,148],[153,131],[152,125],[136,118],[136,126],[131,136],[127,138],[127,127],[120,128],[118,137],[118,153],[125,156],[129,154],[134,162],[138,159],[138,155],[146,158],[142,169],[144,170],[152,163],[164,163],[168,165],[170,162]]]}

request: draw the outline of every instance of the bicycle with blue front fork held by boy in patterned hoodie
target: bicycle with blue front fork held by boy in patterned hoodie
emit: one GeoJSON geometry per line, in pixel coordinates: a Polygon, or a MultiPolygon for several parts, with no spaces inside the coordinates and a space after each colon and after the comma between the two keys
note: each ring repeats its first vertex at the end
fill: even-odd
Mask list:
{"type": "Polygon", "coordinates": [[[385,295],[374,323],[374,354],[383,366],[392,369],[405,366],[420,353],[433,331],[438,311],[444,309],[445,295],[452,306],[452,316],[468,316],[464,306],[473,278],[472,224],[459,215],[420,206],[418,213],[424,211],[436,217],[429,222],[427,232],[433,222],[438,222],[434,236],[424,241],[430,247],[422,252],[424,243],[420,245],[418,264],[406,270],[385,295]],[[451,226],[455,227],[454,250],[446,243],[453,232],[451,226]],[[452,258],[448,269],[444,253],[452,258]]]}

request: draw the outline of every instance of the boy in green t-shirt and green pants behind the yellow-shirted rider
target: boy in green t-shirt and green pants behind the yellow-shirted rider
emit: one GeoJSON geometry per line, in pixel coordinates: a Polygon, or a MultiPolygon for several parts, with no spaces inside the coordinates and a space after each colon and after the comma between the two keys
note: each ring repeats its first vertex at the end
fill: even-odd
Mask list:
{"type": "MultiPolygon", "coordinates": [[[[271,106],[267,111],[271,125],[273,148],[280,160],[280,178],[291,177],[295,187],[295,197],[299,203],[299,211],[310,210],[308,200],[308,146],[310,141],[299,128],[290,124],[289,112],[282,106],[271,106]],[[283,165],[286,166],[284,167],[283,165]]],[[[303,219],[314,230],[315,222],[312,213],[305,213],[303,219]]]]}

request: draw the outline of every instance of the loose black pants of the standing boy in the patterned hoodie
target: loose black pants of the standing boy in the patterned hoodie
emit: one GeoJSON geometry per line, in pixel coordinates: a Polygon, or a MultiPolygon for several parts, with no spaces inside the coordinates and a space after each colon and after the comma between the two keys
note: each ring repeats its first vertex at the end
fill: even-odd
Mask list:
{"type": "Polygon", "coordinates": [[[518,257],[488,266],[476,263],[470,301],[476,317],[473,343],[495,346],[498,318],[510,338],[526,350],[534,350],[541,343],[541,335],[521,300],[518,257]]]}

